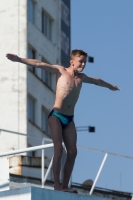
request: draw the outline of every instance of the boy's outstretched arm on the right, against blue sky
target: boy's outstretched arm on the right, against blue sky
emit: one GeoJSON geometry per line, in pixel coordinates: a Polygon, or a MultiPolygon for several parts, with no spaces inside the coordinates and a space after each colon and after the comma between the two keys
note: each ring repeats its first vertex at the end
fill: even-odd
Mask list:
{"type": "Polygon", "coordinates": [[[102,79],[92,78],[92,77],[86,76],[85,74],[83,77],[83,82],[99,85],[101,87],[106,87],[106,88],[109,88],[110,90],[120,90],[117,86],[111,85],[110,83],[107,83],[107,82],[103,81],[102,79]]]}

